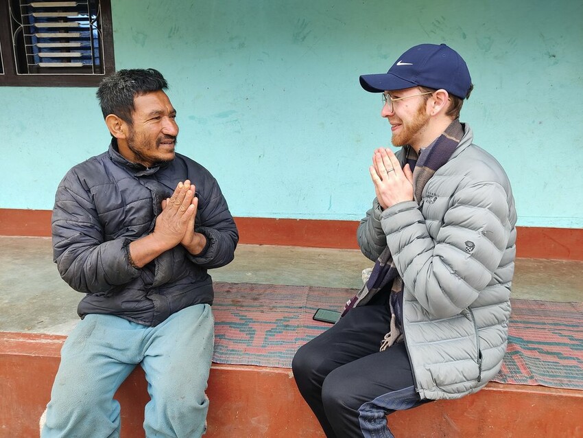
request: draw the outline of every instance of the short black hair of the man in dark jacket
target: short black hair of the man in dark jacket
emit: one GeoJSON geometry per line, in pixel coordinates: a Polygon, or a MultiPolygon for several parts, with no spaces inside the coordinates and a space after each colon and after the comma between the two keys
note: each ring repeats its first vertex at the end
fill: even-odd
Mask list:
{"type": "Polygon", "coordinates": [[[104,118],[115,114],[132,126],[134,98],[145,93],[168,89],[168,82],[155,69],[125,69],[99,83],[97,99],[104,118]]]}

